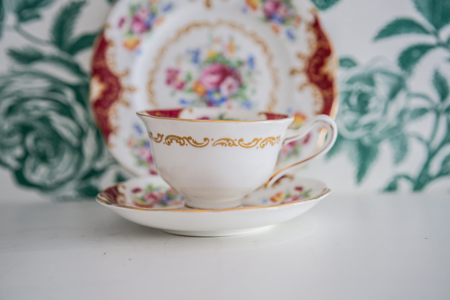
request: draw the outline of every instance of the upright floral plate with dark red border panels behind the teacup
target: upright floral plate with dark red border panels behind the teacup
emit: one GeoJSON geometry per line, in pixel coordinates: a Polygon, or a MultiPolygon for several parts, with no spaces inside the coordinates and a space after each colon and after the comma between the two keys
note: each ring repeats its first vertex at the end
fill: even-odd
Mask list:
{"type": "MultiPolygon", "coordinates": [[[[307,0],[119,0],[94,48],[90,105],[112,155],[156,173],[135,112],[180,106],[293,114],[293,127],[337,109],[337,60],[307,0]]],[[[308,155],[319,132],[286,145],[308,155]]]]}

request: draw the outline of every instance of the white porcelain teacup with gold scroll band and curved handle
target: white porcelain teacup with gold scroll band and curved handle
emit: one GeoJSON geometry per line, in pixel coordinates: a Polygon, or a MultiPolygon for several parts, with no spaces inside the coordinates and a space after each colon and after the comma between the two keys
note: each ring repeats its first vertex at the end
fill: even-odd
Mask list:
{"type": "Polygon", "coordinates": [[[225,209],[241,205],[241,198],[333,146],[337,126],[318,115],[292,130],[293,117],[272,112],[223,107],[195,107],[140,111],[150,137],[153,161],[159,175],[199,209],[225,209]],[[315,153],[275,171],[284,144],[302,139],[316,125],[327,138],[315,153]]]}

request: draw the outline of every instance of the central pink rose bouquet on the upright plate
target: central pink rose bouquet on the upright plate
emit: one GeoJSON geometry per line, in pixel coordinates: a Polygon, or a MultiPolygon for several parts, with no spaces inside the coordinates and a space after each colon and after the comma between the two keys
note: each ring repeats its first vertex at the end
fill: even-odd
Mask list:
{"type": "Polygon", "coordinates": [[[252,54],[237,56],[234,39],[210,36],[206,47],[188,49],[166,69],[166,85],[180,105],[252,108],[257,65],[252,54]]]}

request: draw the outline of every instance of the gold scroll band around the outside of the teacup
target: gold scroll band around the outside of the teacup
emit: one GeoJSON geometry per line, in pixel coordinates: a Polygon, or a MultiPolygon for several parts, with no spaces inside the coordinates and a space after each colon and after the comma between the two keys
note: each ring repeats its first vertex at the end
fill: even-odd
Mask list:
{"type": "MultiPolygon", "coordinates": [[[[198,142],[192,138],[192,136],[177,136],[177,135],[168,135],[164,137],[163,134],[157,133],[156,136],[153,135],[153,132],[150,132],[148,134],[150,138],[155,141],[156,143],[163,143],[165,145],[170,146],[173,143],[177,143],[180,146],[184,145],[191,145],[196,148],[203,148],[209,144],[210,141],[214,141],[214,139],[209,139],[207,137],[203,138],[203,142],[198,142]]],[[[255,137],[252,141],[249,141],[247,143],[244,142],[243,138],[238,139],[231,139],[228,137],[220,138],[212,143],[212,146],[224,146],[224,147],[243,147],[243,148],[264,148],[266,145],[275,145],[280,143],[280,136],[270,136],[266,137],[265,139],[262,139],[261,137],[255,137]]]]}

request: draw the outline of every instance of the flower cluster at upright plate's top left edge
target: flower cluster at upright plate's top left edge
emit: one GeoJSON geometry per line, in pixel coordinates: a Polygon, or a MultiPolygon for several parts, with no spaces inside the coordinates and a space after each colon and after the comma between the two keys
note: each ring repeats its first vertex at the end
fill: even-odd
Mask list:
{"type": "Polygon", "coordinates": [[[164,21],[164,14],[173,9],[172,2],[143,0],[130,5],[128,14],[119,18],[117,27],[124,35],[123,46],[135,50],[141,43],[142,36],[151,32],[164,21]]]}

